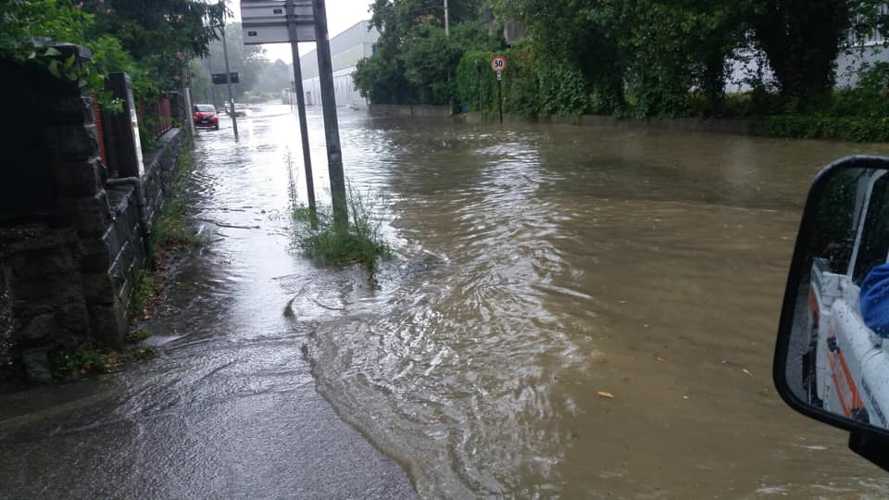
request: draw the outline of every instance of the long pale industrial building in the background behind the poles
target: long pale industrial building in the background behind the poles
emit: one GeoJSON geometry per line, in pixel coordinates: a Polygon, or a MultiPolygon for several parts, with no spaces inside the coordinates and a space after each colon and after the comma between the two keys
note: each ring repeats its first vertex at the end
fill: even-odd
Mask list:
{"type": "MultiPolygon", "coordinates": [[[[337,106],[366,108],[367,99],[361,97],[352,81],[358,61],[373,55],[373,46],[380,33],[361,21],[330,39],[330,57],[333,62],[333,84],[337,106]]],[[[318,79],[318,55],[313,50],[299,58],[303,75],[306,105],[321,105],[321,82],[318,79]]]]}

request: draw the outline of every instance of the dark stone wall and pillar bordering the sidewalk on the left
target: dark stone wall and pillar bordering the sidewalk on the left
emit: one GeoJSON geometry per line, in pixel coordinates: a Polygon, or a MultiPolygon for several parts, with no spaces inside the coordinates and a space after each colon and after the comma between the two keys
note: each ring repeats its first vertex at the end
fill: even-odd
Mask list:
{"type": "MultiPolygon", "coordinates": [[[[78,61],[89,55],[63,49],[78,61]]],[[[122,344],[149,224],[190,135],[169,130],[141,177],[114,178],[100,159],[92,99],[76,82],[4,61],[0,70],[3,95],[17,96],[10,116],[21,117],[0,165],[0,363],[14,358],[45,380],[54,349],[122,344]]]]}

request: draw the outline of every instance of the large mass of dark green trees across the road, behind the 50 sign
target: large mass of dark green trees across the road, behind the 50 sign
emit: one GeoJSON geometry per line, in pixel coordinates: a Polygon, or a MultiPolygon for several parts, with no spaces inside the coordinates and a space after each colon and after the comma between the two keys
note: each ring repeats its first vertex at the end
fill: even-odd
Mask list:
{"type": "MultiPolygon", "coordinates": [[[[448,46],[436,2],[377,0],[383,33],[356,84],[378,103],[442,103],[490,111],[491,75],[476,68],[503,51],[481,38],[448,46]],[[452,62],[452,57],[457,57],[452,62]],[[484,55],[482,55],[484,53],[484,55]],[[455,85],[448,78],[456,74],[455,85]]],[[[471,3],[471,2],[469,2],[471,3]]],[[[636,118],[758,116],[863,108],[879,93],[831,95],[834,62],[847,41],[889,35],[878,0],[489,0],[496,22],[518,21],[528,34],[508,54],[506,111],[523,116],[608,113],[636,118]],[[729,61],[762,63],[725,95],[729,61]],[[528,64],[522,64],[527,62],[528,64]],[[766,80],[771,68],[775,82],[766,80]],[[776,89],[778,95],[770,89],[776,89]]],[[[470,9],[471,10],[471,9],[470,9]]],[[[476,8],[476,12],[481,12],[476,8]]],[[[452,26],[463,26],[461,19],[452,26]]],[[[456,32],[457,30],[454,30],[456,32]]],[[[453,38],[453,35],[452,35],[453,38]]],[[[875,75],[874,84],[885,83],[875,75]]],[[[870,85],[863,80],[863,86],[870,85]]],[[[872,86],[870,86],[872,87],[872,86]]],[[[869,87],[869,88],[870,88],[869,87]]],[[[883,90],[881,89],[880,92],[883,90]]],[[[887,116],[883,106],[872,116],[887,116]]]]}

